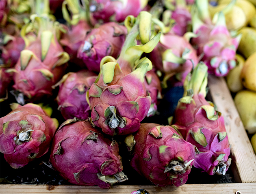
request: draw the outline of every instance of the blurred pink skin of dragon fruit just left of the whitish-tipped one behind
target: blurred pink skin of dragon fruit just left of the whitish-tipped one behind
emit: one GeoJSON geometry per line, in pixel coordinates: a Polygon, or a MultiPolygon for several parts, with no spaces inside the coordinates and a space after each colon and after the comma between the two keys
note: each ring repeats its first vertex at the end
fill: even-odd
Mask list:
{"type": "Polygon", "coordinates": [[[80,45],[85,40],[87,32],[89,32],[90,29],[91,27],[85,20],[80,20],[78,24],[71,26],[71,28],[67,28],[67,26],[65,26],[67,33],[63,33],[60,43],[64,51],[69,54],[69,62],[78,66],[85,66],[83,61],[77,58],[77,53],[80,45]]]}

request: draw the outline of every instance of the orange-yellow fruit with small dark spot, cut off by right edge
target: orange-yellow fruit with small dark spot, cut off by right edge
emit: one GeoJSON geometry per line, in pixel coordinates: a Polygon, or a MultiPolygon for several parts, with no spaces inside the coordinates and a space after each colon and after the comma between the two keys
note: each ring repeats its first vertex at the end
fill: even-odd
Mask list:
{"type": "Polygon", "coordinates": [[[244,87],[256,92],[256,52],[245,61],[240,79],[244,87]]]}

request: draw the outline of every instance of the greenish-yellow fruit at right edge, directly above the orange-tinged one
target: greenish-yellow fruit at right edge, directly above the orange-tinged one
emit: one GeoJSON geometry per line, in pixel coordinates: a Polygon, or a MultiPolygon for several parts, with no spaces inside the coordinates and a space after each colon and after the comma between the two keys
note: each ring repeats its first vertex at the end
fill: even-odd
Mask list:
{"type": "Polygon", "coordinates": [[[242,34],[242,38],[237,50],[242,53],[245,58],[248,58],[252,53],[256,52],[256,29],[244,27],[239,30],[239,34],[240,33],[242,34]]]}

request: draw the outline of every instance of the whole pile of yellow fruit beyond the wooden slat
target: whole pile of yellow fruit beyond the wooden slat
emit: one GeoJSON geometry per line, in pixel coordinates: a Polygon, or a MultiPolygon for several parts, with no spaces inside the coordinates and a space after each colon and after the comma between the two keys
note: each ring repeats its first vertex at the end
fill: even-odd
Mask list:
{"type": "Polygon", "coordinates": [[[228,88],[256,152],[256,0],[219,0],[211,14],[225,13],[229,30],[242,34],[236,67],[226,77],[228,88]]]}

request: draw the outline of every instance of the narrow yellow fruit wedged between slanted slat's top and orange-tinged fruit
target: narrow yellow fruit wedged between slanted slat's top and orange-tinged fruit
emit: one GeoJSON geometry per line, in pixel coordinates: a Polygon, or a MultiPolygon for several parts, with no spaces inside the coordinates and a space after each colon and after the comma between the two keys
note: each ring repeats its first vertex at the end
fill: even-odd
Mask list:
{"type": "Polygon", "coordinates": [[[240,80],[241,70],[243,68],[243,64],[245,59],[236,54],[236,66],[231,69],[226,77],[228,88],[231,92],[238,92],[243,89],[243,85],[240,80]]]}

